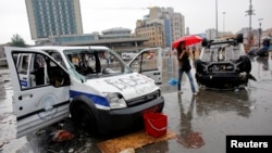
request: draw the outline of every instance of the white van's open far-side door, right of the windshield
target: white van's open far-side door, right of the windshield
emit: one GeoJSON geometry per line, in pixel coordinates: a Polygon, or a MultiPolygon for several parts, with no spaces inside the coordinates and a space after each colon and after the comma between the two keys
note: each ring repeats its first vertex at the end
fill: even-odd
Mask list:
{"type": "Polygon", "coordinates": [[[162,84],[162,49],[147,48],[141,50],[128,66],[139,74],[150,77],[157,85],[162,84]]]}

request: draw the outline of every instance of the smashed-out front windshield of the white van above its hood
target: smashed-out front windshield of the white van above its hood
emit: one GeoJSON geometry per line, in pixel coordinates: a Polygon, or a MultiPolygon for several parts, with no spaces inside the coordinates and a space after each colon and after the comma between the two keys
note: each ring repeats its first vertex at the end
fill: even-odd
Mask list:
{"type": "Polygon", "coordinates": [[[71,67],[69,72],[81,80],[132,73],[111,50],[71,49],[64,50],[64,55],[71,67]]]}

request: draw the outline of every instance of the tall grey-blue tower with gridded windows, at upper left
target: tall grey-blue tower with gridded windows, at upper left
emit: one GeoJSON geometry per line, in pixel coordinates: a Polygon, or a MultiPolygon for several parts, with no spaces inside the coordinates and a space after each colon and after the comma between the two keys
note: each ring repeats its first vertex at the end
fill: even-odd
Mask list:
{"type": "Polygon", "coordinates": [[[50,37],[82,35],[79,0],[25,0],[32,39],[36,43],[50,37]]]}

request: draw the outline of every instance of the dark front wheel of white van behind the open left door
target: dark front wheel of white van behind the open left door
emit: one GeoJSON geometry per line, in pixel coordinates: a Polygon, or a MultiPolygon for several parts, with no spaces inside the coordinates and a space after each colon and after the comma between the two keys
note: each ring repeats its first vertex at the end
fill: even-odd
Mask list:
{"type": "Polygon", "coordinates": [[[90,136],[97,136],[97,123],[94,113],[86,104],[79,104],[71,112],[73,120],[79,125],[84,130],[88,131],[90,136]]]}

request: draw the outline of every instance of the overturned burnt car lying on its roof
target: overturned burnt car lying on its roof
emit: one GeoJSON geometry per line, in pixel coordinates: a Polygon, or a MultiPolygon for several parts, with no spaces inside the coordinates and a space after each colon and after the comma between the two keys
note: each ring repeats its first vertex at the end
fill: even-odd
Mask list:
{"type": "Polygon", "coordinates": [[[243,35],[233,38],[208,40],[203,38],[199,59],[195,61],[199,87],[237,89],[245,87],[250,75],[251,61],[243,44],[243,35]]]}

